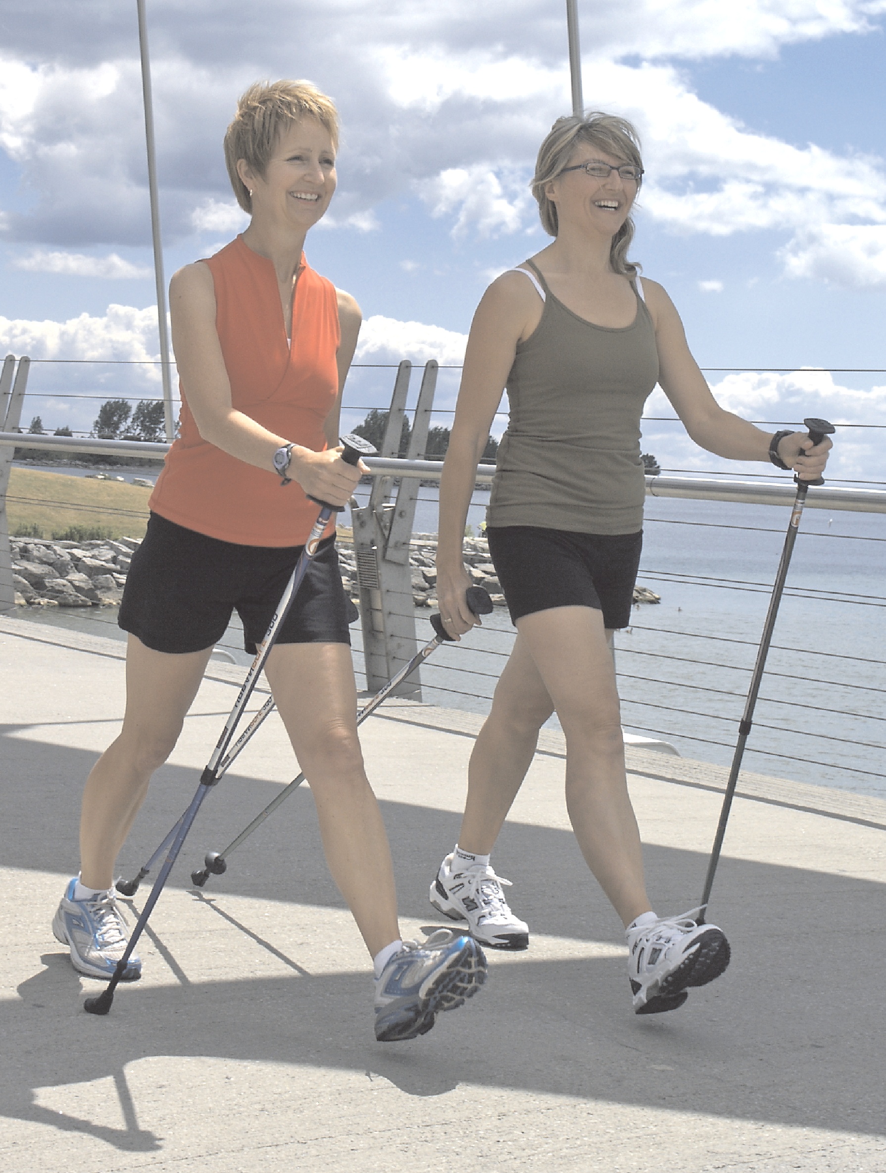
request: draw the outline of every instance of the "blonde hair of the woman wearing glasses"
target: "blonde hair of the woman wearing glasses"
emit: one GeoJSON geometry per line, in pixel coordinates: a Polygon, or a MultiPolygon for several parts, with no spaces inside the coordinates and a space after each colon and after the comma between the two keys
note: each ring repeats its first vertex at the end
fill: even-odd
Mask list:
{"type": "MultiPolygon", "coordinates": [[[[557,118],[539,148],[535,175],[530,184],[532,192],[539,202],[542,228],[548,236],[557,235],[559,223],[556,204],[548,199],[545,188],[552,179],[562,175],[580,143],[588,143],[607,155],[623,158],[625,163],[643,168],[643,160],[640,155],[640,135],[627,118],[620,118],[615,114],[602,114],[600,110],[593,110],[583,117],[571,114],[568,117],[557,118]]],[[[640,191],[641,183],[642,177],[637,183],[637,191],[640,191]]],[[[633,238],[634,221],[629,216],[613,237],[609,253],[614,271],[625,277],[636,277],[640,270],[640,265],[628,260],[628,249],[633,238]]]]}

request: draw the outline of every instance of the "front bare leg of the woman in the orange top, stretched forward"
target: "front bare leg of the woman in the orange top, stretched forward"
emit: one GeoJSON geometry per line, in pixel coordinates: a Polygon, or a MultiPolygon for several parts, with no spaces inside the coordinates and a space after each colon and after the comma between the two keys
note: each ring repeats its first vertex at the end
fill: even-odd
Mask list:
{"type": "Polygon", "coordinates": [[[332,879],[373,956],[400,936],[387,834],[363,766],[346,644],[278,644],[266,669],[317,804],[332,879]]]}

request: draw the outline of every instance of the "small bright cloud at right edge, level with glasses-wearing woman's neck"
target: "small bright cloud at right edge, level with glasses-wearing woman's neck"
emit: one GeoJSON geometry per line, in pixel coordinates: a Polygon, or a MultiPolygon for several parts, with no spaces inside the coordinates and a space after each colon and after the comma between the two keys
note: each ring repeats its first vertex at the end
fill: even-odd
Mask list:
{"type": "Polygon", "coordinates": [[[820,224],[782,250],[789,277],[819,278],[847,289],[886,289],[886,226],[820,224]]]}

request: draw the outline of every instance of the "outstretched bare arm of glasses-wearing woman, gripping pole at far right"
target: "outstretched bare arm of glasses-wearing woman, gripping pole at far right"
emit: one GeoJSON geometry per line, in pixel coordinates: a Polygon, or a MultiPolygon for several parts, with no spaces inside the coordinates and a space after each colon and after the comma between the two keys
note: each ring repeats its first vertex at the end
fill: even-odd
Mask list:
{"type": "MultiPolygon", "coordinates": [[[[674,303],[656,282],[644,279],[643,290],[655,323],[658,381],[691,439],[717,456],[769,463],[772,433],[762,432],[719,406],[689,351],[674,303]]],[[[816,480],[831,447],[827,438],[813,447],[805,432],[794,432],[779,442],[778,455],[804,480],[816,480]]]]}

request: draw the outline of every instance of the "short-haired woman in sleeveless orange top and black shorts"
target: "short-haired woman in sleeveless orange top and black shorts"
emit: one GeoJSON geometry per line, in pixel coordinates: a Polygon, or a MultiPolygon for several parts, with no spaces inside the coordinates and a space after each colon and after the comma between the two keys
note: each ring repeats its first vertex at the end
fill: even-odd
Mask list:
{"type": "MultiPolygon", "coordinates": [[[[234,609],[255,651],[317,517],[364,466],[341,460],[341,388],[357,345],[354,299],[305,262],[307,230],[336,189],[338,115],[309,82],[256,84],[225,136],[242,236],[173,278],[181,435],[150,500],[120,624],[129,632],[120,737],[89,775],[81,873],[53,931],[81,972],[110,978],[126,943],[114,863],[151,773],[169,757],[234,609]]],[[[265,669],[310,780],[332,875],[376,970],[376,1036],[425,1033],[485,975],[469,937],[400,940],[391,853],[357,739],[346,599],[330,523],[265,669]]],[[[141,975],[133,956],[127,977],[141,975]]]]}

